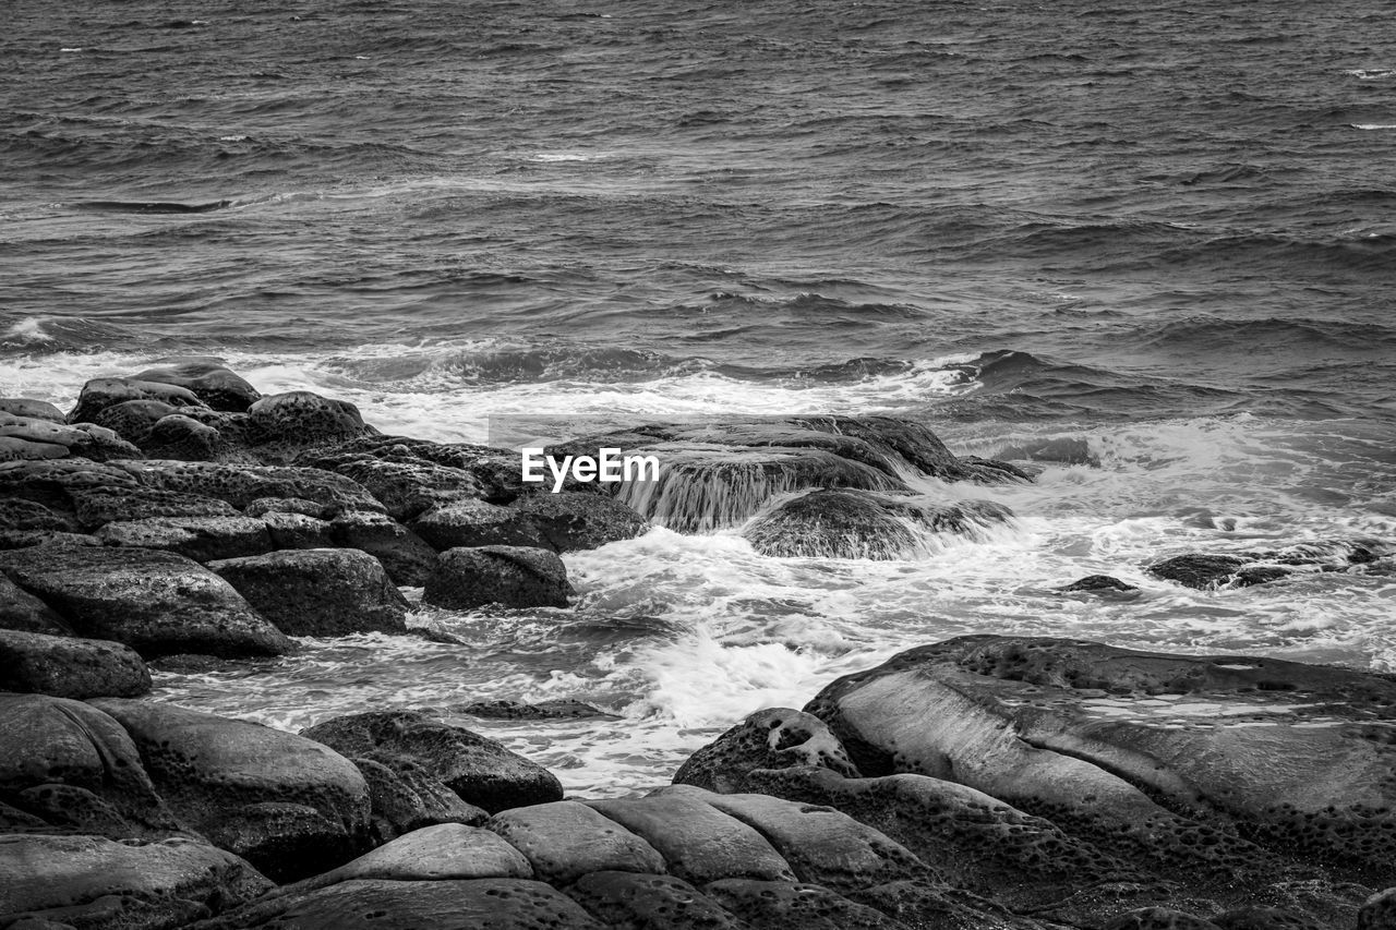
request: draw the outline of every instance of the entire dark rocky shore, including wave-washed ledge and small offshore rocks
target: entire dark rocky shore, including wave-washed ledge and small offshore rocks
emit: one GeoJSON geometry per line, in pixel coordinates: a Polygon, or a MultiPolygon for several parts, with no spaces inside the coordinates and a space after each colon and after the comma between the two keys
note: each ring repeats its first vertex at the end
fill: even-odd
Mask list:
{"type": "MultiPolygon", "coordinates": [[[[148,660],[420,634],[401,588],[565,606],[560,553],[652,524],[895,559],[1012,519],[927,487],[1032,480],[891,418],[560,451],[600,447],[666,472],[551,494],[514,452],[385,436],[204,359],[91,381],[67,415],[0,399],[0,930],[1396,927],[1396,681],[1372,673],[962,637],[759,711],[623,800],[568,799],[413,708],[297,735],[142,700],[148,660]]],[[[1389,561],[1297,542],[1149,571],[1217,588],[1389,561]]]]}

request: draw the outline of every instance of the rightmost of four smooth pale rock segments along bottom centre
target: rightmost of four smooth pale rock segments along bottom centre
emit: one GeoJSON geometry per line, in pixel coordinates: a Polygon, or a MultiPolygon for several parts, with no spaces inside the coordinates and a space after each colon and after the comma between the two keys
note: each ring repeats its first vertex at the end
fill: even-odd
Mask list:
{"type": "Polygon", "coordinates": [[[655,792],[704,802],[761,832],[794,874],[836,891],[931,877],[909,849],[832,807],[766,795],[715,795],[690,785],[655,792]]]}

